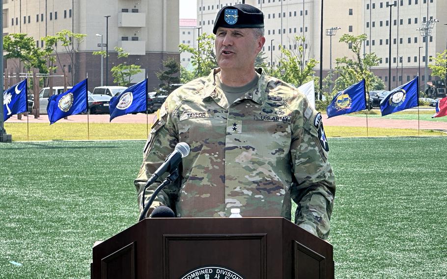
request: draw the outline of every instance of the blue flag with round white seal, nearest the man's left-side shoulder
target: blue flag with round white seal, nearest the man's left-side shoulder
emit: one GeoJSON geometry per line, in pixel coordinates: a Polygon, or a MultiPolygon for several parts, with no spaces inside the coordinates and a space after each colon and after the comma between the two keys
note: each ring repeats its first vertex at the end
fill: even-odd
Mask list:
{"type": "Polygon", "coordinates": [[[147,79],[134,84],[110,99],[110,121],[113,118],[132,113],[145,112],[147,110],[147,79]]]}

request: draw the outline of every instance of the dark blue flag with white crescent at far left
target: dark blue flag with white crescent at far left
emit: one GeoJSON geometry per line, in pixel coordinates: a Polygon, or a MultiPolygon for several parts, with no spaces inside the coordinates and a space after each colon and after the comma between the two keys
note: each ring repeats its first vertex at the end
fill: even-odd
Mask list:
{"type": "Polygon", "coordinates": [[[3,121],[14,114],[27,112],[27,79],[3,92],[3,121]]]}

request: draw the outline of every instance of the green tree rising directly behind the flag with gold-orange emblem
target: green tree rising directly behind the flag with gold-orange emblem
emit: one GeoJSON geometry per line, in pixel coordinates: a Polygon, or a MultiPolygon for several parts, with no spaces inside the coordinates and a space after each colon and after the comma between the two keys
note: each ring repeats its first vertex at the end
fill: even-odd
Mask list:
{"type": "Polygon", "coordinates": [[[372,83],[377,83],[374,74],[369,70],[372,66],[379,65],[379,57],[375,53],[365,54],[363,56],[362,43],[367,39],[366,34],[354,36],[343,34],[340,42],[346,43],[354,53],[354,59],[347,56],[336,58],[336,69],[339,77],[335,81],[335,92],[345,89],[352,84],[365,80],[366,92],[372,89],[372,83]]]}

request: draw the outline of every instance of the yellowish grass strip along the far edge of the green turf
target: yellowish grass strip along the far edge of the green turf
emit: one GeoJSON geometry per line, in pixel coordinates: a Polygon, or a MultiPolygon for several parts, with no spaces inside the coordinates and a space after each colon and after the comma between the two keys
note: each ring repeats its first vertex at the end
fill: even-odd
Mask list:
{"type": "MultiPolygon", "coordinates": [[[[447,117],[446,117],[447,118],[447,117]]],[[[14,141],[27,141],[26,123],[5,123],[8,134],[14,141]]],[[[327,126],[328,137],[394,137],[418,136],[415,129],[388,129],[366,127],[327,126]]],[[[138,140],[147,139],[146,124],[90,123],[90,140],[138,140]]],[[[445,133],[433,130],[420,130],[420,136],[442,136],[445,133]]],[[[29,140],[87,140],[86,123],[45,123],[29,124],[29,140]]]]}

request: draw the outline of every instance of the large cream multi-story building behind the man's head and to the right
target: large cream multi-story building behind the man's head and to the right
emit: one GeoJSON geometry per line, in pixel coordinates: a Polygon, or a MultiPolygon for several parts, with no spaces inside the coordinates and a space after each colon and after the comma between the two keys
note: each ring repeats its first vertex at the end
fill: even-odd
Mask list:
{"type": "MultiPolygon", "coordinates": [[[[197,0],[197,27],[211,33],[219,9],[225,5],[245,2],[259,8],[264,13],[266,43],[263,51],[268,56],[268,65],[275,65],[281,57],[279,45],[289,50],[296,48],[295,36],[305,36],[306,56],[320,60],[320,0],[197,0]]],[[[391,14],[391,83],[392,87],[413,79],[418,75],[419,47],[421,47],[421,67],[424,65],[425,39],[417,28],[429,19],[447,18],[447,1],[444,0],[337,0],[324,1],[323,21],[323,77],[335,67],[335,58],[353,54],[350,47],[340,43],[341,35],[365,33],[368,40],[363,44],[364,53],[374,52],[381,58],[372,71],[388,84],[388,41],[389,17],[388,3],[395,3],[391,14]],[[428,13],[427,13],[428,7],[428,13]],[[428,16],[427,16],[428,14],[428,16]],[[326,30],[340,28],[333,36],[326,30]],[[331,48],[332,40],[332,48],[331,48]],[[399,58],[398,58],[399,57],[399,58]],[[400,62],[402,60],[402,62],[400,62]],[[397,71],[399,69],[399,71],[397,71]]],[[[435,56],[446,49],[447,26],[435,24],[432,36],[428,38],[428,55],[435,56]]],[[[320,65],[315,68],[319,75],[320,65]]],[[[429,70],[429,73],[431,71],[429,70]]],[[[423,68],[421,70],[423,76],[423,68]]],[[[423,79],[421,77],[421,79],[423,79]]],[[[431,76],[428,80],[431,80],[431,76]]],[[[425,81],[421,81],[422,82],[425,81]]]]}

